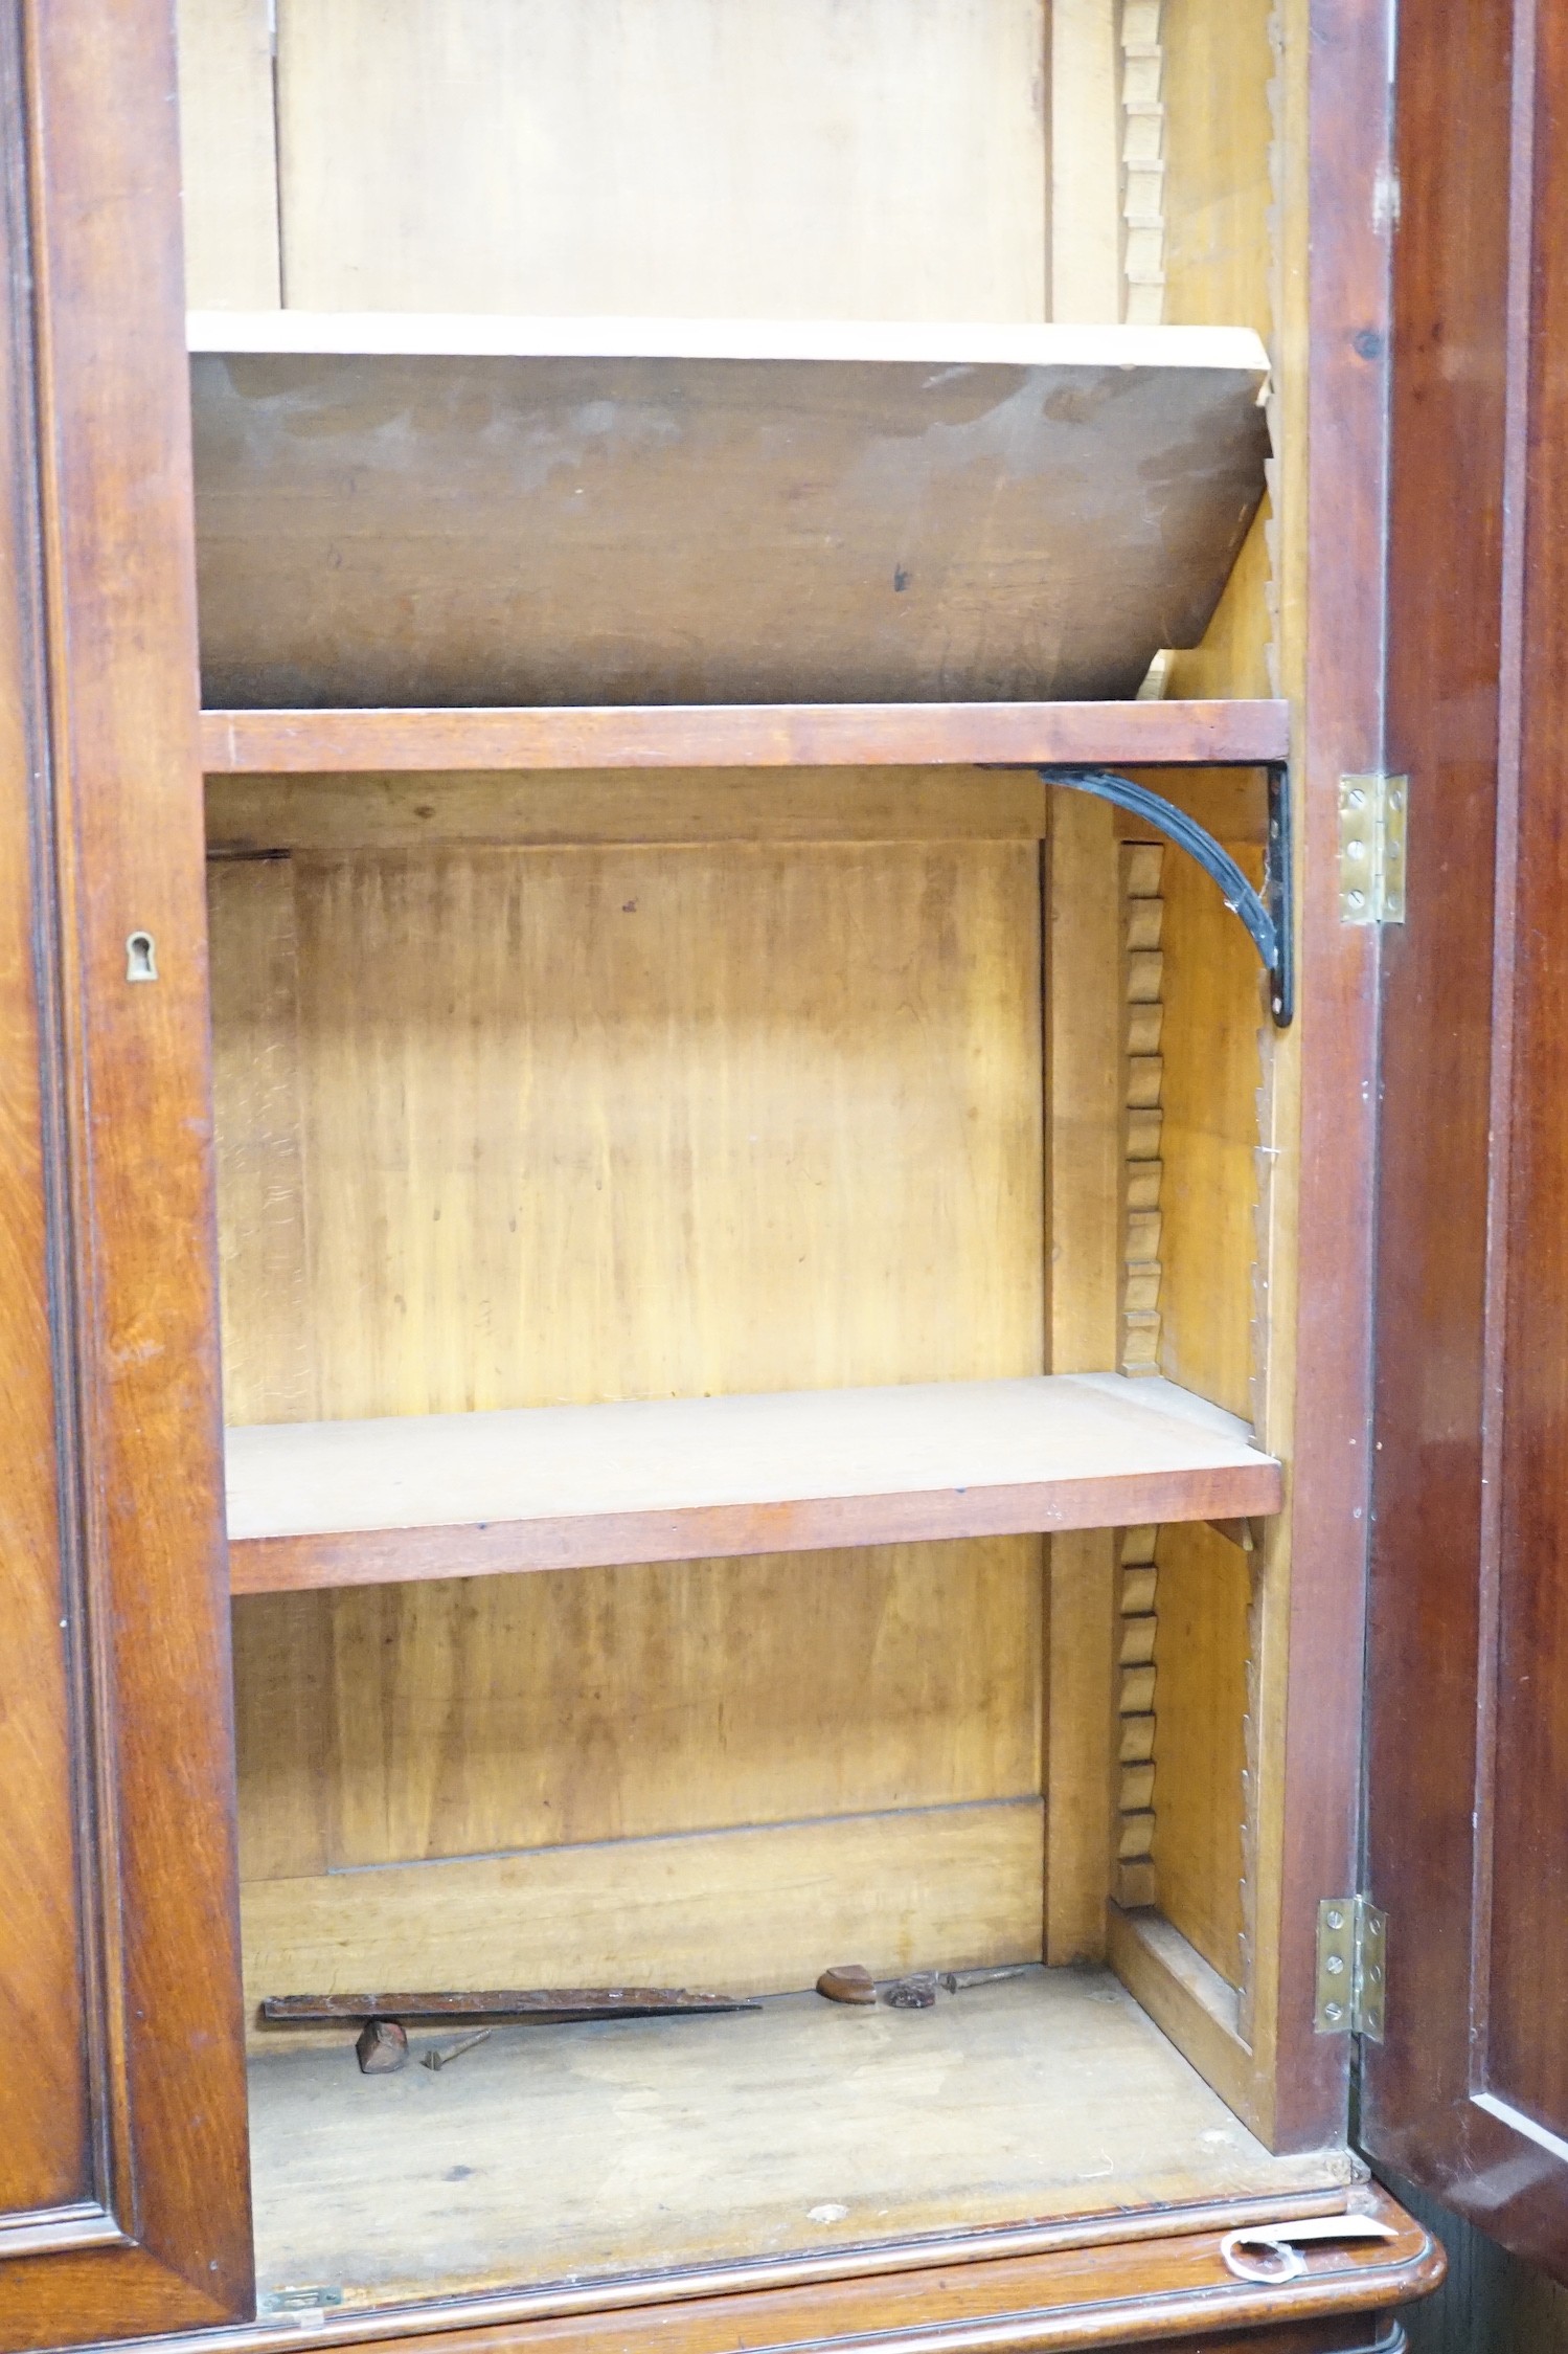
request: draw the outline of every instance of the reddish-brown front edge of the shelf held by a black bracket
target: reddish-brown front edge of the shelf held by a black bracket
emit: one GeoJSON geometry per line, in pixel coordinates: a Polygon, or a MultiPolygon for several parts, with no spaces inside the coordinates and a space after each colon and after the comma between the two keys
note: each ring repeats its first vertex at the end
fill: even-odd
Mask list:
{"type": "Polygon", "coordinates": [[[397,770],[1265,767],[1284,701],[639,704],[465,711],[205,711],[209,777],[397,770]]]}

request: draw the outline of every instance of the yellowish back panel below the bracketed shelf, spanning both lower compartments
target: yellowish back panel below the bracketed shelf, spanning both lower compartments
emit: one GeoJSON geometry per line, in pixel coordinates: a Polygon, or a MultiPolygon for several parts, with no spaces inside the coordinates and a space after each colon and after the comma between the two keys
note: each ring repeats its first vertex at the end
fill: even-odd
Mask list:
{"type": "MultiPolygon", "coordinates": [[[[216,862],[230,1419],[1041,1370],[1032,807],[992,840],[216,862]]],[[[668,1897],[616,1843],[748,1824],[771,1871],[684,1848],[679,1935],[705,1921],[708,1975],[795,1984],[792,1822],[823,1827],[818,1968],[867,1874],[889,1963],[940,1959],[919,1940],[952,1940],[959,1902],[978,1959],[1039,1951],[1037,1540],[268,1598],[235,1624],[244,1878],[275,1888],[249,1897],[256,1991],[308,1975],[322,1907],[371,1977],[418,1977],[451,1921],[416,1874],[355,1930],[371,1883],[329,1869],[557,1848],[576,1942],[538,1968],[679,1977],[668,1897]],[[877,1808],[914,1810],[919,1864],[851,1829],[877,1808]]],[[[465,1869],[505,1909],[508,1867],[465,1869]]]]}

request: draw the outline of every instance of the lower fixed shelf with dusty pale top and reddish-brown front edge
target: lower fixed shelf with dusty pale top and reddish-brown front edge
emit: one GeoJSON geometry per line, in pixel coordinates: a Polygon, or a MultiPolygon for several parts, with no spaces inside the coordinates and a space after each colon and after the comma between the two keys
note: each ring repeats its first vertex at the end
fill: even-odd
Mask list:
{"type": "Polygon", "coordinates": [[[1171,1382],[277,1422],[228,1434],[235,1594],[1279,1511],[1281,1469],[1171,1382]]]}

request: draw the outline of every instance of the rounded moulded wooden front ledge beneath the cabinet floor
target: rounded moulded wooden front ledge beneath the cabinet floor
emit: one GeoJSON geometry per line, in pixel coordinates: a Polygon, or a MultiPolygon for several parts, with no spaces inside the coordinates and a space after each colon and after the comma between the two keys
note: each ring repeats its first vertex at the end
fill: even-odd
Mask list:
{"type": "MultiPolygon", "coordinates": [[[[1140,2241],[1053,2248],[985,2262],[797,2288],[738,2288],[729,2295],[616,2305],[597,2312],[543,2312],[510,2319],[520,2298],[407,2307],[341,2316],[329,2326],[268,2326],[158,2340],[146,2354],[282,2354],[282,2349],[383,2349],[423,2345],[428,2354],[816,2354],[875,2347],[877,2354],[1065,2354],[1199,2340],[1201,2354],[1361,2354],[1380,2345],[1373,2316],[1429,2295],[1443,2253],[1385,2192],[1363,2194],[1399,2232],[1385,2243],[1347,2243],[1312,2257],[1305,2281],[1255,2288],[1232,2279],[1220,2234],[1204,2229],[1140,2241]],[[1258,2333],[1258,2335],[1255,2335],[1258,2333]]],[[[1121,2229],[1110,2225],[1107,2229],[1121,2229]]],[[[578,2307],[592,2290],[567,2290],[578,2307]]],[[[621,2290],[621,2298],[635,2290],[621,2290]]],[[[1197,2345],[1192,2354],[1199,2354],[1197,2345]]]]}

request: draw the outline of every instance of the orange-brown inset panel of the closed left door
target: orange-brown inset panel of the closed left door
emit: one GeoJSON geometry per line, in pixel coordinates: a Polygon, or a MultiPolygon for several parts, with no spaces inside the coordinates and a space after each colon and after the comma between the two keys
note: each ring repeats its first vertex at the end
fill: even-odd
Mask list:
{"type": "MultiPolygon", "coordinates": [[[[14,12],[0,19],[0,118],[21,120],[14,12]]],[[[26,2022],[0,2130],[0,2257],[82,2232],[103,2208],[115,2119],[103,2100],[101,1923],[80,1869],[80,1575],[63,1471],[56,1019],[49,989],[49,763],[38,579],[28,202],[21,141],[0,139],[0,1987],[26,2022]]]]}

